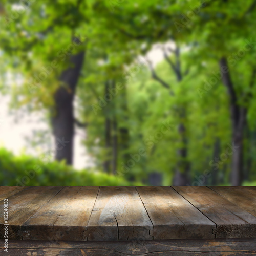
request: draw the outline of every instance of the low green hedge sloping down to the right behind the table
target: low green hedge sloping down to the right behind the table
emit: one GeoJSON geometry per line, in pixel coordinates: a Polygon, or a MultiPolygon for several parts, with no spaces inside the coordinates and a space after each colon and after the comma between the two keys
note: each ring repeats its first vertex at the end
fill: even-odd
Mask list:
{"type": "Polygon", "coordinates": [[[32,156],[14,156],[0,148],[1,186],[129,186],[122,177],[75,170],[64,162],[44,163],[32,156]]]}

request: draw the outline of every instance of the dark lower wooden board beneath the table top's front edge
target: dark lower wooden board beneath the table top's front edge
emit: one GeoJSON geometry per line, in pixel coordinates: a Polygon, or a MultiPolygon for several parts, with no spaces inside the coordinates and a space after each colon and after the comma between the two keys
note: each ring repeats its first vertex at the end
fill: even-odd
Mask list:
{"type": "MultiPolygon", "coordinates": [[[[2,243],[2,241],[0,241],[2,243]]],[[[12,255],[256,255],[256,239],[151,241],[10,241],[12,255]]]]}

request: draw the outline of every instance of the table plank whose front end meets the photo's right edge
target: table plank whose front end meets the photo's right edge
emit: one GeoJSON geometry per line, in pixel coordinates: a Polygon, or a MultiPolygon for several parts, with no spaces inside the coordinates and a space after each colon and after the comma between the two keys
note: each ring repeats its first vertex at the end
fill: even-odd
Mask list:
{"type": "Polygon", "coordinates": [[[216,238],[256,237],[256,217],[208,187],[173,187],[216,223],[216,238]]]}

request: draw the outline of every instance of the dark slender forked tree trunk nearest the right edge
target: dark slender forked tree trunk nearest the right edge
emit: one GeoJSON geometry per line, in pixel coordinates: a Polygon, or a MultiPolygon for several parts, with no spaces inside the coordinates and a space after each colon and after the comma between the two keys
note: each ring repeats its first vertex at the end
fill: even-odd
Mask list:
{"type": "Polygon", "coordinates": [[[222,81],[227,88],[230,97],[230,114],[232,123],[232,143],[237,148],[233,149],[231,160],[231,184],[240,186],[242,184],[243,174],[243,131],[246,120],[246,109],[238,103],[236,91],[228,70],[226,58],[220,60],[220,70],[222,81]]]}

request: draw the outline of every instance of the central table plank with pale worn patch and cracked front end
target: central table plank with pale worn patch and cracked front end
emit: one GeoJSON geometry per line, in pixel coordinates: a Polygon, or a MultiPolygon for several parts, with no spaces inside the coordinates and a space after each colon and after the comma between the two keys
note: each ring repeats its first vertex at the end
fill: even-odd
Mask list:
{"type": "Polygon", "coordinates": [[[149,240],[151,229],[135,187],[100,187],[88,223],[88,240],[149,240]]]}

